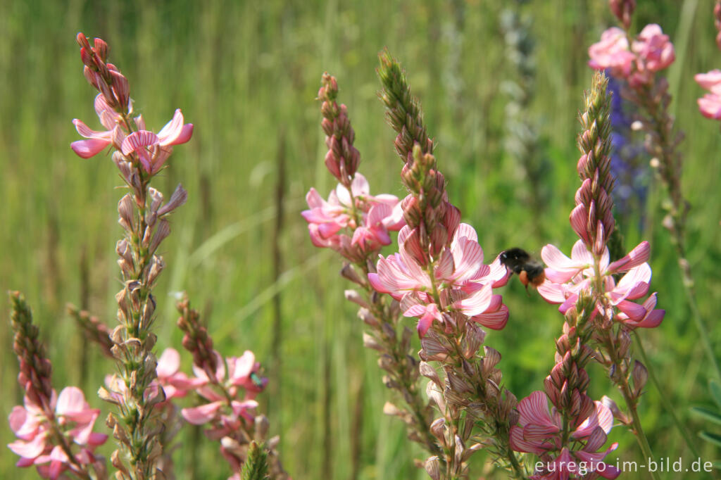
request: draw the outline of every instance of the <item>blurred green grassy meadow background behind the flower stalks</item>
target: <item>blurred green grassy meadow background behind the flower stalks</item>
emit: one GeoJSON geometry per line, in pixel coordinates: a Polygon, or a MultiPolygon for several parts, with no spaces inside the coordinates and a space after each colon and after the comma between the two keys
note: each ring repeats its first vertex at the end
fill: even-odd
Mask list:
{"type": "MultiPolygon", "coordinates": [[[[689,261],[699,308],[717,345],[721,142],[718,124],[696,108],[702,91],[693,81],[695,73],[721,66],[713,2],[638,3],[636,30],[657,22],[676,45],[668,78],[671,110],[687,133],[681,151],[691,203],[689,261]]],[[[173,295],[187,290],[206,315],[218,350],[241,355],[252,349],[265,365],[270,386],[260,397],[262,409],[271,431],[281,435],[280,452],[293,478],[425,478],[412,466],[422,453],[404,440],[404,427],[381,412],[394,399],[381,383],[374,352],[361,345],[355,306],[343,299],[348,285],[337,275],[340,259],[311,246],[299,215],[311,186],[322,195],[333,187],[322,166],[325,147],[314,101],[320,76],[337,76],[371,193],[404,195],[394,134],[376,98],[376,54],[387,46],[423,103],[451,201],[479,232],[487,259],[510,246],[538,254],[554,243],[570,252],[575,235],[567,218],[578,187],[576,115],[590,86],[588,45],[614,25],[606,4],[1,1],[0,288],[24,291],[34,307],[56,388],[81,385],[90,403],[101,406],[94,392],[112,365],[84,342],[64,304],[81,304],[114,326],[119,288],[114,246],[121,234],[115,212],[123,194],[115,188],[120,179],[109,156],[83,160],[69,148],[79,138],[73,118],[99,126],[95,92],[81,74],[74,40],[83,31],[110,44],[110,61],[131,82],[136,111],[149,127],[161,128],[177,107],[195,124],[193,140],[176,148],[171,168],[156,183],[169,195],[182,182],[190,194],[173,215],[173,234],[164,243],[168,267],[156,290],[159,347],[180,348],[173,295]],[[529,22],[520,33],[533,45],[528,61],[534,65],[512,61],[513,37],[500,19],[513,14],[529,22]],[[514,85],[528,87],[515,107],[514,85]],[[526,135],[530,147],[520,144],[526,146],[520,157],[523,132],[513,127],[513,115],[536,129],[526,135]]],[[[711,373],[660,226],[663,189],[651,183],[647,207],[620,220],[627,249],[640,239],[651,241],[652,289],[666,309],[658,329],[641,332],[665,391],[659,394],[649,383],[640,412],[655,455],[690,462],[660,395],[668,396],[696,439],[702,425],[688,409],[709,403],[711,373]]],[[[562,316],[535,292],[526,295],[517,281],[502,293],[510,321],[486,342],[502,353],[507,386],[521,399],[542,388],[562,316]]],[[[0,303],[6,311],[6,298],[0,303]]],[[[22,402],[6,318],[0,329],[4,417],[22,402]]],[[[184,362],[190,370],[187,355],[184,362]]],[[[603,371],[590,370],[594,398],[618,398],[603,371]]],[[[0,443],[11,442],[12,432],[0,423],[0,443]]],[[[620,447],[610,461],[642,461],[632,435],[618,428],[612,438],[620,447]]],[[[187,428],[179,440],[180,478],[229,475],[216,445],[203,441],[198,430],[187,428]]],[[[708,446],[703,453],[708,461],[721,457],[708,446]]],[[[3,446],[0,478],[35,477],[35,471],[14,468],[16,460],[3,446]]],[[[472,465],[473,478],[504,477],[482,454],[472,465]]],[[[674,475],[665,478],[681,478],[674,475]]]]}

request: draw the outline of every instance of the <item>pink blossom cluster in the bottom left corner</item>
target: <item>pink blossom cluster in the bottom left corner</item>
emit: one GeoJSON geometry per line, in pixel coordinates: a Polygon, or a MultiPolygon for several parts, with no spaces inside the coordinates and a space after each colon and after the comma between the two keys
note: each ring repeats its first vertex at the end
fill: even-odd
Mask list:
{"type": "Polygon", "coordinates": [[[95,463],[95,447],[107,440],[107,435],[92,431],[99,414],[77,387],[63,388],[59,396],[53,390],[48,406],[37,405],[26,396],[25,406],[14,406],[8,417],[18,437],[8,445],[21,457],[17,466],[35,465],[40,476],[54,480],[63,471],[79,471],[79,466],[95,463]],[[58,443],[58,435],[66,445],[58,443]],[[70,450],[71,443],[80,445],[77,453],[70,450]]]}

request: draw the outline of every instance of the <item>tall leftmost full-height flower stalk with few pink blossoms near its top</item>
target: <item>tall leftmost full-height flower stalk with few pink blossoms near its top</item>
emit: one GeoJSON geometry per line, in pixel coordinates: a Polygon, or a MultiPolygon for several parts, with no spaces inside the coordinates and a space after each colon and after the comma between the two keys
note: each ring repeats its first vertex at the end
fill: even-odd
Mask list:
{"type": "Polygon", "coordinates": [[[193,125],[184,125],[182,113],[176,110],[173,120],[158,134],[146,130],[141,116],[132,117],[128,80],[107,63],[107,43],[96,38],[90,45],[82,33],[77,41],[84,76],[99,91],[95,110],[107,130],[95,131],[74,120],[86,140],[71,147],[79,156],[89,158],[112,146],[112,160],[128,187],[118,203],[118,223],[125,235],[115,248],[123,282],[123,289],[115,295],[119,325],[110,334],[110,352],[117,365],[111,385],[116,388],[101,389],[101,396],[118,406],[107,419],[119,445],[111,461],[121,479],[154,479],[163,453],[163,428],[156,406],[165,400],[163,389],[156,388],[156,337],[151,332],[156,308],[152,290],[165,267],[156,251],[170,234],[167,216],[185,203],[187,193],[179,185],[164,203],[164,195],[150,184],[164,168],[172,146],[190,140],[193,125]]]}

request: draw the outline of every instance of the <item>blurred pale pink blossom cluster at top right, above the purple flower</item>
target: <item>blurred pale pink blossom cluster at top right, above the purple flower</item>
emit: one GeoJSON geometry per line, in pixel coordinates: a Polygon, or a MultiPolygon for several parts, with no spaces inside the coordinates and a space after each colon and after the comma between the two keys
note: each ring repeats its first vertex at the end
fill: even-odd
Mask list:
{"type": "Polygon", "coordinates": [[[656,24],[646,25],[629,45],[627,32],[611,27],[601,41],[588,48],[588,65],[608,69],[611,76],[625,79],[632,87],[653,83],[655,72],[667,68],[676,59],[673,44],[656,24]]]}

